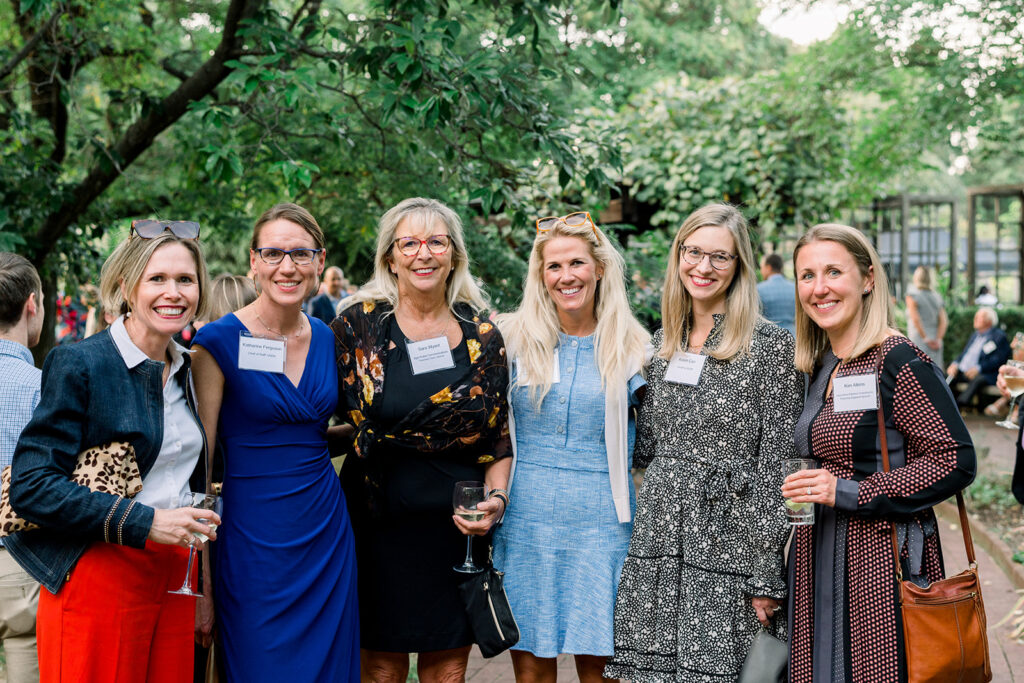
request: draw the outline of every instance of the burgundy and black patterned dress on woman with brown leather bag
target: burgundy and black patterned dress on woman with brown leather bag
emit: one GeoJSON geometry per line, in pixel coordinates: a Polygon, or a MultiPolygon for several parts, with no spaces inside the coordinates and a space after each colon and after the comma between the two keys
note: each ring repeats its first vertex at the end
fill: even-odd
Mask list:
{"type": "Polygon", "coordinates": [[[793,683],[906,680],[890,527],[904,578],[943,577],[932,506],[971,483],[971,436],[940,371],[905,337],[888,338],[839,368],[870,375],[883,354],[881,395],[891,471],[882,471],[878,413],[837,413],[826,395],[839,365],[830,351],[811,380],[797,423],[797,451],[839,477],[836,506],[818,505],[799,527],[790,558],[793,683]]]}

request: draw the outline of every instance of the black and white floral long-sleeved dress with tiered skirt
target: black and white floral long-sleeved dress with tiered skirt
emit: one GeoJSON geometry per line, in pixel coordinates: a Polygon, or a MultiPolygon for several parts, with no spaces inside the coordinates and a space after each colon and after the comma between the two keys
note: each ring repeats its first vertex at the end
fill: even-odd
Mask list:
{"type": "MultiPolygon", "coordinates": [[[[723,321],[715,316],[706,348],[723,321]]],[[[780,461],[795,457],[804,386],[793,358],[793,337],[759,322],[750,353],[709,356],[696,386],[666,381],[665,359],[651,364],[634,452],[647,472],[605,676],[736,679],[759,629],[751,598],[785,595],[780,461]]],[[[774,626],[783,635],[781,612],[774,626]]]]}

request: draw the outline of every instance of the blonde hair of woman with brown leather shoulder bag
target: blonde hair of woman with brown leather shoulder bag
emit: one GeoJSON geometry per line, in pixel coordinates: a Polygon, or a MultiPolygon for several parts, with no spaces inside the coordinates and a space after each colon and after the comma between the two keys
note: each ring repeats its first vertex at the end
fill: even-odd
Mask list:
{"type": "MultiPolygon", "coordinates": [[[[860,230],[839,223],[821,223],[804,232],[793,252],[794,271],[798,283],[800,272],[796,271],[797,257],[800,256],[801,249],[813,242],[835,242],[853,257],[862,276],[873,275],[874,279],[870,290],[862,295],[857,339],[847,357],[843,358],[845,362],[878,346],[889,336],[889,331],[894,326],[892,301],[889,298],[889,279],[886,276],[886,269],[878,252],[860,230]]],[[[797,306],[797,370],[804,373],[814,372],[814,368],[828,346],[828,335],[825,331],[811,321],[803,306],[797,306]]]]}

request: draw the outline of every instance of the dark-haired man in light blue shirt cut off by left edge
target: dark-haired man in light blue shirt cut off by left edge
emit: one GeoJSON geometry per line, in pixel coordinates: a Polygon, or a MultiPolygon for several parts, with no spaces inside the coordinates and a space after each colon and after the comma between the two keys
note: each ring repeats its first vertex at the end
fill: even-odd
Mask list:
{"type": "MultiPolygon", "coordinates": [[[[0,470],[39,403],[42,373],[30,348],[43,331],[43,285],[28,259],[0,252],[0,470]]],[[[0,539],[0,641],[8,683],[39,680],[36,607],[39,582],[14,561],[0,539]]]]}

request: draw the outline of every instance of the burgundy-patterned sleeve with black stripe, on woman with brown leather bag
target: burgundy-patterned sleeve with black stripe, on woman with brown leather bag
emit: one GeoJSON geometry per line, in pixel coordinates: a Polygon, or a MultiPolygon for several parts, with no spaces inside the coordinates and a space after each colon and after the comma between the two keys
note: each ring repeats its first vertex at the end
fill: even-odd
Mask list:
{"type": "Polygon", "coordinates": [[[905,515],[926,510],[974,480],[974,444],[956,403],[934,366],[906,343],[890,346],[883,364],[886,420],[906,442],[906,465],[859,482],[857,513],[905,515]]]}

